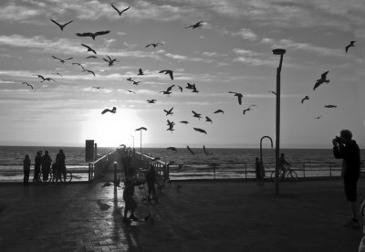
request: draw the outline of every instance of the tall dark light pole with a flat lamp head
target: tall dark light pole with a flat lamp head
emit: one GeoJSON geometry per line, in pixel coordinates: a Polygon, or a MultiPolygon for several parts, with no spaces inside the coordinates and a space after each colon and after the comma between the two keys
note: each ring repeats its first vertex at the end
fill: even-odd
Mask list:
{"type": "Polygon", "coordinates": [[[287,50],[277,48],[273,54],[280,56],[279,66],[276,68],[276,146],[275,146],[275,193],[279,194],[279,155],[280,155],[280,73],[283,56],[287,50]]]}

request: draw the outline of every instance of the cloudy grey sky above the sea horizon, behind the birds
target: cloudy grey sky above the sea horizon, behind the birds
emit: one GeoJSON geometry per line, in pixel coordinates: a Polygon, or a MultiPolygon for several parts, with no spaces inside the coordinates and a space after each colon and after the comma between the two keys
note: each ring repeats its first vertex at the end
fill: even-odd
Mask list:
{"type": "Polygon", "coordinates": [[[265,135],[275,142],[274,48],[287,50],[280,146],[330,148],[339,131],[349,129],[365,148],[363,0],[1,1],[0,145],[84,146],[94,140],[114,147],[134,140],[136,148],[141,142],[258,148],[265,135]],[[130,9],[119,16],[110,4],[130,9]],[[62,31],[51,18],[73,22],[62,31]],[[185,28],[199,21],[201,28],[185,28]],[[76,35],[107,30],[95,40],[76,35]],[[346,53],[351,40],[355,47],[346,53]],[[157,42],[162,45],[146,47],[157,42]],[[81,44],[98,58],[87,58],[94,54],[81,44]],[[110,67],[107,55],[117,59],[110,67]],[[72,59],[62,64],[52,56],[72,59]],[[137,75],[139,68],[144,75],[137,75]],[[163,69],[174,79],[159,73],[163,69]],[[329,83],[314,90],[326,71],[329,83]],[[37,75],[56,81],[41,82],[37,75]],[[185,89],[187,83],[199,92],[185,89]],[[172,85],[170,96],[161,93],[172,85]],[[242,104],[229,92],[242,93],[242,104]],[[301,103],[305,96],[309,100],[301,103]],[[112,107],[116,113],[101,114],[112,107]],[[174,131],[167,131],[167,120],[174,131]],[[147,131],[135,131],[140,127],[147,131]]]}

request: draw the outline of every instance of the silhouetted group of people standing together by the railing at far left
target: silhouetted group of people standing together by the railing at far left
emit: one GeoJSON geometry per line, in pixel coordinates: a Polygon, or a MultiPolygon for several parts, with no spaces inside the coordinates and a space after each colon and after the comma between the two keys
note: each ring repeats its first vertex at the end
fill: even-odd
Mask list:
{"type": "MultiPolygon", "coordinates": [[[[62,149],[56,155],[56,162],[52,164],[52,159],[49,156],[49,152],[45,151],[42,156],[42,151],[36,152],[35,164],[34,164],[34,174],[33,174],[33,182],[46,182],[49,179],[49,173],[52,170],[53,173],[53,181],[58,182],[61,181],[61,174],[63,174],[64,182],[66,182],[66,155],[62,149]],[[40,177],[40,173],[42,173],[42,178],[40,177]]],[[[29,155],[26,154],[25,159],[23,160],[23,171],[24,171],[24,179],[23,184],[29,183],[29,174],[30,174],[30,166],[31,161],[29,155]]]]}

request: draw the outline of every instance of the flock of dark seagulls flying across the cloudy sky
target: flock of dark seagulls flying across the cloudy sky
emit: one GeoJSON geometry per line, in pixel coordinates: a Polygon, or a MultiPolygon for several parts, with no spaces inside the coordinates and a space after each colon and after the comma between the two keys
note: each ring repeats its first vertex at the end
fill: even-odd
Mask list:
{"type": "MultiPolygon", "coordinates": [[[[130,6],[129,7],[126,7],[126,8],[123,8],[122,10],[120,10],[119,8],[117,8],[115,5],[111,4],[111,8],[113,8],[115,11],[118,12],[118,15],[121,16],[123,13],[127,12],[130,10],[130,6]]],[[[69,24],[71,24],[73,22],[73,20],[71,21],[68,21],[67,23],[65,24],[60,24],[58,23],[56,20],[54,19],[50,19],[51,22],[53,22],[55,25],[57,25],[61,31],[64,31],[64,29],[66,28],[66,26],[68,26],[69,24]]],[[[184,28],[202,28],[203,26],[203,21],[199,21],[191,26],[185,26],[184,28]]],[[[99,36],[105,36],[105,35],[108,35],[110,34],[110,30],[105,30],[105,31],[98,31],[98,32],[83,32],[83,33],[76,33],[76,36],[78,37],[91,37],[93,40],[96,39],[96,37],[99,37],[99,36]]],[[[345,52],[348,53],[349,51],[349,47],[355,47],[355,42],[356,41],[350,41],[349,45],[345,47],[345,52]]],[[[153,48],[156,48],[156,47],[160,47],[162,46],[163,43],[160,43],[160,42],[157,42],[157,43],[150,43],[148,45],[146,45],[145,47],[153,47],[153,48]]],[[[97,53],[97,51],[95,49],[93,49],[92,47],[82,43],[81,44],[82,47],[85,47],[87,49],[87,52],[89,53],[92,53],[93,55],[90,55],[86,58],[99,58],[99,55],[97,53]]],[[[66,62],[68,62],[69,60],[72,60],[73,58],[58,58],[56,56],[53,56],[52,55],[52,58],[58,60],[61,64],[65,64],[66,62]]],[[[116,58],[110,58],[110,56],[106,55],[106,58],[102,58],[102,60],[104,60],[105,62],[108,63],[108,68],[112,67],[116,62],[119,62],[116,58]]],[[[81,63],[78,63],[78,62],[72,62],[71,65],[75,65],[75,66],[78,66],[81,68],[81,71],[82,72],[86,72],[86,73],[89,73],[93,76],[96,76],[95,72],[91,69],[88,69],[88,68],[85,68],[81,63]]],[[[316,90],[318,89],[319,86],[321,86],[322,84],[328,84],[329,83],[329,79],[328,79],[328,72],[329,71],[326,71],[324,72],[320,79],[317,79],[316,82],[315,82],[315,85],[314,85],[314,88],[313,90],[316,90]]],[[[173,76],[173,70],[172,69],[162,69],[159,71],[159,73],[161,74],[164,74],[164,75],[168,75],[170,77],[171,80],[174,79],[174,76],[173,76]]],[[[59,76],[60,78],[63,78],[63,76],[56,72],[54,73],[55,75],[59,76]]],[[[139,76],[143,76],[145,75],[145,73],[143,72],[142,68],[139,68],[138,70],[138,73],[136,74],[136,77],[139,77],[139,76]]],[[[45,77],[43,75],[35,75],[36,77],[38,77],[40,79],[40,82],[44,82],[44,81],[53,81],[53,82],[57,82],[55,79],[52,79],[50,77],[45,77]]],[[[130,77],[127,79],[128,81],[130,81],[132,83],[132,85],[135,85],[135,86],[138,86],[141,81],[139,80],[136,80],[134,79],[134,77],[130,77]]],[[[33,85],[27,83],[27,82],[23,82],[22,83],[23,85],[26,85],[27,87],[30,87],[31,89],[33,89],[33,85]]],[[[162,93],[163,95],[167,95],[168,97],[170,97],[170,95],[172,94],[172,89],[177,86],[177,88],[180,90],[180,92],[183,92],[184,89],[188,89],[188,90],[191,90],[191,92],[193,93],[199,93],[199,90],[197,89],[196,87],[196,84],[195,83],[187,83],[186,84],[186,87],[182,87],[180,85],[171,85],[169,86],[167,89],[165,90],[162,90],[160,91],[159,93],[162,93]]],[[[103,89],[103,87],[92,87],[94,89],[103,89]]],[[[133,93],[133,94],[136,94],[136,91],[132,90],[132,89],[128,89],[127,90],[129,93],[133,93]]],[[[276,92],[275,91],[270,91],[272,92],[274,95],[276,95],[276,92]]],[[[239,105],[242,105],[242,100],[244,98],[244,95],[243,93],[241,92],[236,92],[236,91],[228,91],[229,94],[233,94],[234,97],[236,97],[237,101],[238,101],[238,104],[239,105]]],[[[308,96],[305,96],[303,99],[301,99],[301,103],[304,103],[306,100],[309,100],[309,97],[308,96]]],[[[150,99],[150,100],[147,100],[147,103],[156,103],[156,99],[150,99]]],[[[251,104],[249,105],[245,110],[243,110],[243,114],[245,115],[248,111],[251,111],[253,110],[253,108],[255,108],[256,105],[255,104],[251,104]]],[[[325,105],[324,107],[326,108],[337,108],[336,105],[332,105],[332,104],[328,104],[328,105],[325,105]]],[[[165,112],[165,115],[166,117],[168,116],[172,116],[173,114],[173,107],[171,109],[166,109],[166,110],[163,110],[165,112]]],[[[117,112],[117,108],[116,107],[112,107],[112,109],[105,109],[105,110],[102,110],[101,111],[101,114],[106,114],[106,113],[116,113],[117,112]]],[[[200,120],[202,118],[202,114],[197,112],[197,111],[194,111],[192,110],[192,115],[193,115],[193,118],[196,118],[198,120],[200,120]]],[[[224,114],[224,110],[215,110],[214,111],[214,114],[224,114]]],[[[209,117],[209,116],[204,116],[205,117],[205,121],[206,122],[210,122],[210,123],[213,123],[213,120],[209,117]]],[[[321,118],[321,116],[318,116],[316,117],[315,119],[319,119],[321,118]]],[[[180,121],[180,123],[183,123],[183,124],[188,124],[189,121],[180,121]]],[[[171,120],[167,120],[167,126],[168,128],[166,129],[166,131],[174,131],[174,126],[175,126],[175,122],[174,121],[171,121],[171,120]]],[[[194,131],[197,131],[197,132],[201,132],[203,134],[207,134],[207,131],[203,130],[202,128],[196,128],[196,127],[193,127],[193,130],[194,131]]],[[[136,129],[135,131],[147,131],[147,128],[145,127],[141,127],[141,128],[138,128],[136,129]]],[[[187,149],[189,150],[189,152],[191,152],[192,154],[194,154],[194,152],[192,151],[192,149],[187,146],[187,149]]],[[[176,151],[176,148],[174,147],[169,147],[168,150],[172,150],[172,151],[176,151]]],[[[211,154],[209,152],[206,152],[206,149],[205,149],[205,146],[203,146],[203,150],[206,154],[211,154]]]]}

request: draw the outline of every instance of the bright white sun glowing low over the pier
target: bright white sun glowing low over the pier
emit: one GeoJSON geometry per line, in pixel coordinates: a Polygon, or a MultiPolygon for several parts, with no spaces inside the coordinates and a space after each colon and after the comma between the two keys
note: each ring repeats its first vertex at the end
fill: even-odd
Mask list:
{"type": "Polygon", "coordinates": [[[99,147],[130,146],[130,135],[143,125],[135,110],[118,109],[115,114],[101,114],[99,110],[89,112],[89,120],[84,122],[82,136],[98,143],[99,147]]]}

